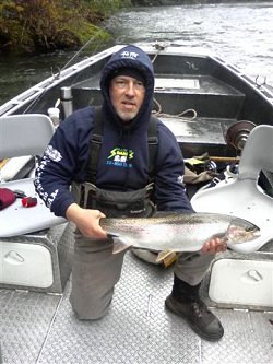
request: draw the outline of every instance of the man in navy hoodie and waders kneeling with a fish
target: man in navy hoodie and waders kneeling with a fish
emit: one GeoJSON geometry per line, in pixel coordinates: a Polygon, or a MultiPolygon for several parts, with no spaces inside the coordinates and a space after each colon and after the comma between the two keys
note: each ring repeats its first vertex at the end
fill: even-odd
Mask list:
{"type": "MultiPolygon", "coordinates": [[[[151,216],[154,206],[157,211],[193,212],[176,138],[162,121],[152,121],[154,71],[149,56],[135,46],[120,49],[105,66],[100,89],[100,108],[79,109],[57,128],[35,178],[47,207],[76,225],[70,302],[80,319],[107,313],[127,251],[112,254],[102,218],[151,216]],[[156,138],[149,143],[151,125],[156,138]]],[[[199,251],[179,254],[165,302],[211,341],[221,339],[224,329],[200,300],[199,287],[214,255],[225,249],[215,238],[199,251]]]]}

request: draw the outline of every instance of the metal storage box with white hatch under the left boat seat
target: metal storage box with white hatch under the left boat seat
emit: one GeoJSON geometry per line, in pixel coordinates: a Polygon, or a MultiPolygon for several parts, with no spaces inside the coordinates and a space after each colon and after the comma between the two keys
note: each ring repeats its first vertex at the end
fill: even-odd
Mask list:
{"type": "Polygon", "coordinates": [[[73,224],[0,238],[0,287],[62,293],[71,273],[73,224]]]}

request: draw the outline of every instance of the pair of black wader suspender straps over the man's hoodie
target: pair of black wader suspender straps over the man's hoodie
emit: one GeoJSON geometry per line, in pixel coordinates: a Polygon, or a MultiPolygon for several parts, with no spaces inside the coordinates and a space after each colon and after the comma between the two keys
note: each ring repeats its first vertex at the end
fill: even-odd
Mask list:
{"type": "MultiPolygon", "coordinates": [[[[155,157],[157,153],[157,132],[155,117],[151,117],[147,127],[147,143],[149,143],[149,184],[155,179],[155,157]]],[[[90,158],[87,164],[86,180],[96,185],[97,162],[99,151],[103,143],[103,122],[102,107],[95,106],[94,128],[91,138],[90,158]]]]}

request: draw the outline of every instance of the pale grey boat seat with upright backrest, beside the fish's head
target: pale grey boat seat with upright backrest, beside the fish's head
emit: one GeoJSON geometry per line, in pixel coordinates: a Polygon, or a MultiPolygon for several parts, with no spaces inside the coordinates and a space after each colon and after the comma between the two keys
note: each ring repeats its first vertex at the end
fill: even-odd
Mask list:
{"type": "Polygon", "coordinates": [[[230,183],[198,191],[191,199],[197,212],[218,212],[246,219],[260,228],[260,237],[229,248],[250,254],[273,239],[273,198],[258,185],[261,171],[273,172],[273,127],[254,127],[246,141],[238,175],[230,183]]]}

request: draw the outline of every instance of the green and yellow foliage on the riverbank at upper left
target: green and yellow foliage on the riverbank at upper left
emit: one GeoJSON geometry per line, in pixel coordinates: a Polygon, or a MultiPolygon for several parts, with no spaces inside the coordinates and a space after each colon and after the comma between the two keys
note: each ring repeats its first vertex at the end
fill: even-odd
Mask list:
{"type": "Polygon", "coordinates": [[[0,52],[46,52],[73,49],[110,34],[102,22],[130,0],[2,0],[0,52]]]}

